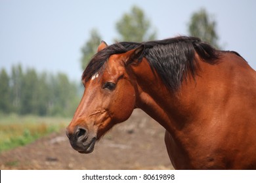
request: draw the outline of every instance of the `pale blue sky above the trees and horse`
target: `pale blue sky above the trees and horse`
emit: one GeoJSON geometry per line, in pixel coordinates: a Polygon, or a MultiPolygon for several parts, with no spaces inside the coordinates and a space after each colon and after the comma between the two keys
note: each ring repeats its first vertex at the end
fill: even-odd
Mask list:
{"type": "Polygon", "coordinates": [[[81,80],[81,48],[91,29],[108,44],[117,37],[116,22],[137,5],[158,39],[188,35],[191,15],[205,8],[217,22],[219,44],[234,50],[256,69],[256,1],[171,0],[0,0],[0,69],[12,65],[38,72],[66,73],[81,80]]]}

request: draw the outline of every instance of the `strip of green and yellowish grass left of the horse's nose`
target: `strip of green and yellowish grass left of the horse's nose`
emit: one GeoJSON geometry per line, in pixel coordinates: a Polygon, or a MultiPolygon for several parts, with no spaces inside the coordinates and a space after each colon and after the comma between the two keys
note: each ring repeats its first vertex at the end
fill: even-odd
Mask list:
{"type": "Polygon", "coordinates": [[[24,146],[66,127],[70,118],[0,115],[0,152],[24,146]]]}

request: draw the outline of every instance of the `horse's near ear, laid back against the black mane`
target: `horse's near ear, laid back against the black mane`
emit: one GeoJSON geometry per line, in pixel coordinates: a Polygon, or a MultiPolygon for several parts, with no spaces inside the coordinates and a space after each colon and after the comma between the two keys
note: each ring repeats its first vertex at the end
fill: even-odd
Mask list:
{"type": "Polygon", "coordinates": [[[125,59],[125,65],[135,63],[135,61],[136,62],[140,61],[142,59],[144,49],[145,49],[145,45],[141,44],[137,48],[126,52],[127,59],[125,59]]]}

